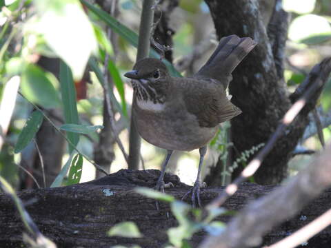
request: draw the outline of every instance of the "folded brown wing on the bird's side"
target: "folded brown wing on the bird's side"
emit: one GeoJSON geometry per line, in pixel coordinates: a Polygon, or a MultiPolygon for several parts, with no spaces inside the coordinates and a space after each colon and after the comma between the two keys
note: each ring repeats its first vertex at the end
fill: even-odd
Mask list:
{"type": "Polygon", "coordinates": [[[223,86],[217,81],[192,80],[185,87],[183,98],[188,112],[197,116],[201,127],[215,127],[241,114],[226,96],[223,86]]]}

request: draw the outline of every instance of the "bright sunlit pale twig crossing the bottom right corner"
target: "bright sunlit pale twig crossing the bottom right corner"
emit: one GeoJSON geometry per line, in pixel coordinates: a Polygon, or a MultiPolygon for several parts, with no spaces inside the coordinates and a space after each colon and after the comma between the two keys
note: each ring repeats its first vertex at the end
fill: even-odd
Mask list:
{"type": "Polygon", "coordinates": [[[331,209],[313,220],[308,225],[305,225],[298,231],[294,232],[291,236],[283,238],[283,240],[275,243],[274,245],[270,245],[268,248],[297,247],[328,227],[328,225],[331,225],[331,209]]]}

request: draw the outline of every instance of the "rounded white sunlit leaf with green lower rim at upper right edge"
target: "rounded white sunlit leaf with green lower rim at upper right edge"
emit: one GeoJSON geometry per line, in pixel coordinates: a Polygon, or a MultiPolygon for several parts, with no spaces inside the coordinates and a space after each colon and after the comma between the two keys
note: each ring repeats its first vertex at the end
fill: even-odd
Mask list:
{"type": "Polygon", "coordinates": [[[305,14],[292,21],[288,37],[298,43],[314,43],[330,39],[331,26],[327,19],[316,14],[305,14]],[[319,38],[317,38],[319,37],[319,38]]]}

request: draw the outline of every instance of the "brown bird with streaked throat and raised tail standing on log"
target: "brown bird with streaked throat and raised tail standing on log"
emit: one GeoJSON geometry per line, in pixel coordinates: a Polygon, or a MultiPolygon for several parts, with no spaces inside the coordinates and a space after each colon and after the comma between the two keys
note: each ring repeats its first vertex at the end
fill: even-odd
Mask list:
{"type": "Polygon", "coordinates": [[[241,114],[226,93],[232,71],[257,45],[250,37],[232,34],[220,39],[210,59],[192,77],[170,76],[160,59],[145,58],[124,76],[131,79],[132,119],[140,136],[167,150],[155,189],[164,192],[165,168],[174,150],[199,149],[197,179],[190,191],[193,207],[201,207],[201,167],[208,143],[219,124],[241,114]]]}

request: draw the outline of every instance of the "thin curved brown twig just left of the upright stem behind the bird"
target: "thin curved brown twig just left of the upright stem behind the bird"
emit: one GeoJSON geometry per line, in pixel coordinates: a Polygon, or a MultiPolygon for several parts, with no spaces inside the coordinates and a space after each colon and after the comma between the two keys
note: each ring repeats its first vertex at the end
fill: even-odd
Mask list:
{"type": "MultiPolygon", "coordinates": [[[[108,36],[110,34],[110,30],[108,30],[108,36]]],[[[126,163],[129,163],[128,161],[128,154],[126,154],[126,150],[123,147],[123,144],[121,142],[121,140],[119,139],[119,135],[115,133],[116,127],[114,125],[115,123],[115,118],[114,118],[114,108],[112,107],[112,103],[110,101],[110,97],[109,97],[109,87],[108,87],[108,63],[109,63],[109,54],[106,53],[106,57],[105,57],[105,63],[104,63],[104,71],[103,71],[103,77],[105,79],[105,83],[103,85],[103,90],[104,90],[104,94],[105,94],[105,98],[106,98],[106,105],[107,105],[107,111],[108,111],[108,116],[110,118],[110,127],[112,129],[112,133],[115,136],[115,141],[117,143],[117,145],[119,145],[119,149],[121,149],[121,152],[124,156],[124,158],[126,159],[126,163]]]]}

